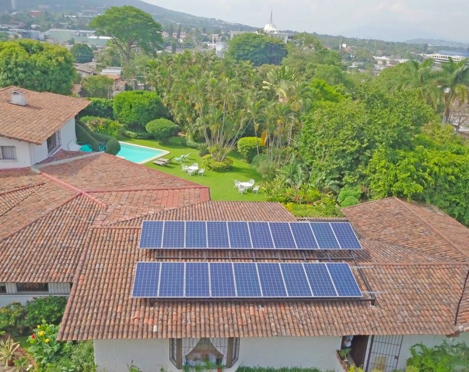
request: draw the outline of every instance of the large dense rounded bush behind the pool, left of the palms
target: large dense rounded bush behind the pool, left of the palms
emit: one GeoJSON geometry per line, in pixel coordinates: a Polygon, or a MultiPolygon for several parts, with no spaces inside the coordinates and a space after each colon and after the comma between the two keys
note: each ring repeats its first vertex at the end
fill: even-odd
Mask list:
{"type": "Polygon", "coordinates": [[[166,116],[166,109],[155,92],[130,90],[114,97],[114,117],[137,131],[146,123],[166,116]]]}

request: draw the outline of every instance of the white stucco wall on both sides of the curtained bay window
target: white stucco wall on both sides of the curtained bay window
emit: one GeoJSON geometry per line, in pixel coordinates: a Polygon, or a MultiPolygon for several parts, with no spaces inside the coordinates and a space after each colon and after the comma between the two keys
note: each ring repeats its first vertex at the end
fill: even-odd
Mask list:
{"type": "MultiPolygon", "coordinates": [[[[317,367],[340,370],[335,352],[340,337],[241,338],[239,358],[226,372],[239,366],[317,367]]],[[[98,371],[128,372],[134,365],[142,372],[178,371],[169,360],[169,340],[94,340],[98,371]]]]}

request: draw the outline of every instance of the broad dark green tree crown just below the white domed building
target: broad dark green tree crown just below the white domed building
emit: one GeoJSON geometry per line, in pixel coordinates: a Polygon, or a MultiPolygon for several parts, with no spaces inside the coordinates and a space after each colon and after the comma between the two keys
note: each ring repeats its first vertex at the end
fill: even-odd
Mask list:
{"type": "Polygon", "coordinates": [[[226,58],[250,61],[254,66],[279,65],[287,55],[286,44],[277,38],[256,33],[236,35],[230,40],[226,58]]]}

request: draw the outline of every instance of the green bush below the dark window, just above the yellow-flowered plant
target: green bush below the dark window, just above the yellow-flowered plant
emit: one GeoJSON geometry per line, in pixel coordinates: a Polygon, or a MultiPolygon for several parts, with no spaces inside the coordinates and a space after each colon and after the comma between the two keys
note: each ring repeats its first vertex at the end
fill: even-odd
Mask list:
{"type": "Polygon", "coordinates": [[[67,297],[46,296],[27,301],[24,305],[24,318],[19,322],[25,332],[31,332],[43,320],[46,323],[59,324],[64,315],[67,297]]]}

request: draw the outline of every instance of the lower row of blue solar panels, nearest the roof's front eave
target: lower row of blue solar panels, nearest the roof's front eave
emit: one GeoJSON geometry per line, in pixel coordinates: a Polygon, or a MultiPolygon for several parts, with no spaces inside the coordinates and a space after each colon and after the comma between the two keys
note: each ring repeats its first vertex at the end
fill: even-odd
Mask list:
{"type": "Polygon", "coordinates": [[[362,297],[346,263],[138,262],[134,298],[362,297]]]}

